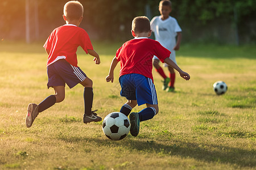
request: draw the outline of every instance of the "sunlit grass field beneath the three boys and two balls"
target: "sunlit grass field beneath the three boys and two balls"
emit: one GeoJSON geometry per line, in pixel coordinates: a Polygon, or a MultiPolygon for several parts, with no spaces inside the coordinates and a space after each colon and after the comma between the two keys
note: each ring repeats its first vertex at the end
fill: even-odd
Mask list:
{"type": "MultiPolygon", "coordinates": [[[[26,128],[28,103],[53,94],[42,44],[0,42],[0,169],[256,169],[255,46],[182,45],[176,59],[191,80],[176,74],[176,92],[167,93],[153,70],[158,115],[141,122],[138,137],[110,141],[102,122],[82,123],[81,85],[26,128]],[[217,80],[228,85],[222,96],[212,89],[217,80]]],[[[93,45],[101,64],[79,49],[79,66],[94,83],[93,109],[105,117],[126,101],[118,69],[114,83],[105,82],[121,44],[93,45]]]]}

